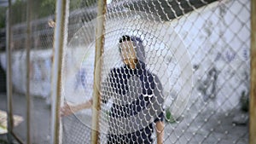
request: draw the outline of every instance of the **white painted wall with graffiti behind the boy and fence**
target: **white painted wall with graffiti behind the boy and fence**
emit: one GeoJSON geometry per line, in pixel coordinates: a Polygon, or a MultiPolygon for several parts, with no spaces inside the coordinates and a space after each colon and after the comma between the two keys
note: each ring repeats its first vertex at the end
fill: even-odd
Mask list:
{"type": "MultiPolygon", "coordinates": [[[[164,24],[141,19],[133,20],[132,17],[125,20],[109,20],[111,25],[107,25],[106,36],[108,37],[105,43],[105,55],[108,59],[104,59],[106,65],[103,76],[113,65],[120,64],[119,53],[116,51],[118,37],[138,32],[143,38],[151,37],[162,41],[152,44],[146,39],[143,43],[147,49],[148,68],[159,75],[164,84],[164,92],[167,97],[166,107],[171,106],[177,116],[183,112],[184,104],[200,107],[201,103],[205,102],[201,91],[197,88],[207,78],[207,72],[212,66],[218,70],[218,90],[215,99],[207,100],[208,104],[212,108],[221,107],[218,109],[219,111],[237,107],[241,92],[248,90],[248,79],[245,73],[249,73],[249,8],[249,0],[225,0],[222,3],[212,3],[164,24]],[[134,29],[137,31],[133,31],[134,29]],[[181,45],[179,45],[180,42],[182,42],[181,45]],[[168,50],[159,55],[159,58],[163,60],[159,59],[158,62],[154,62],[157,61],[154,60],[154,55],[158,54],[155,51],[158,48],[168,50]],[[180,51],[180,49],[187,53],[185,60],[179,60],[182,55],[176,51],[180,51]],[[115,60],[118,62],[114,62],[115,60]],[[188,75],[183,75],[182,80],[177,80],[180,79],[177,77],[182,72],[190,73],[188,67],[182,66],[186,62],[190,66],[199,66],[193,74],[194,87],[192,84],[190,84],[191,87],[189,84],[186,85],[189,89],[193,88],[192,91],[182,89],[186,84],[184,78],[188,75]],[[180,66],[171,71],[170,69],[175,65],[180,66]],[[154,68],[154,66],[159,67],[154,68]],[[166,81],[166,79],[168,80],[166,81]],[[176,80],[177,82],[175,82],[176,80]],[[190,99],[189,94],[192,94],[190,99]],[[177,100],[178,97],[181,99],[177,100]],[[195,104],[193,101],[196,99],[201,99],[201,101],[195,104]],[[177,107],[183,107],[182,110],[177,112],[177,107],[172,105],[174,101],[177,102],[177,107]]],[[[94,36],[93,21],[84,27],[69,42],[63,60],[62,92],[67,101],[72,103],[87,101],[92,95],[94,41],[86,39],[84,36],[94,36]],[[85,78],[85,84],[81,81],[82,77],[85,78]]],[[[50,58],[51,49],[32,51],[32,95],[49,97],[50,58]]],[[[15,89],[22,93],[25,93],[26,82],[25,59],[25,52],[13,54],[13,83],[15,89]]],[[[3,67],[6,68],[5,54],[0,55],[0,60],[3,67]]]]}

